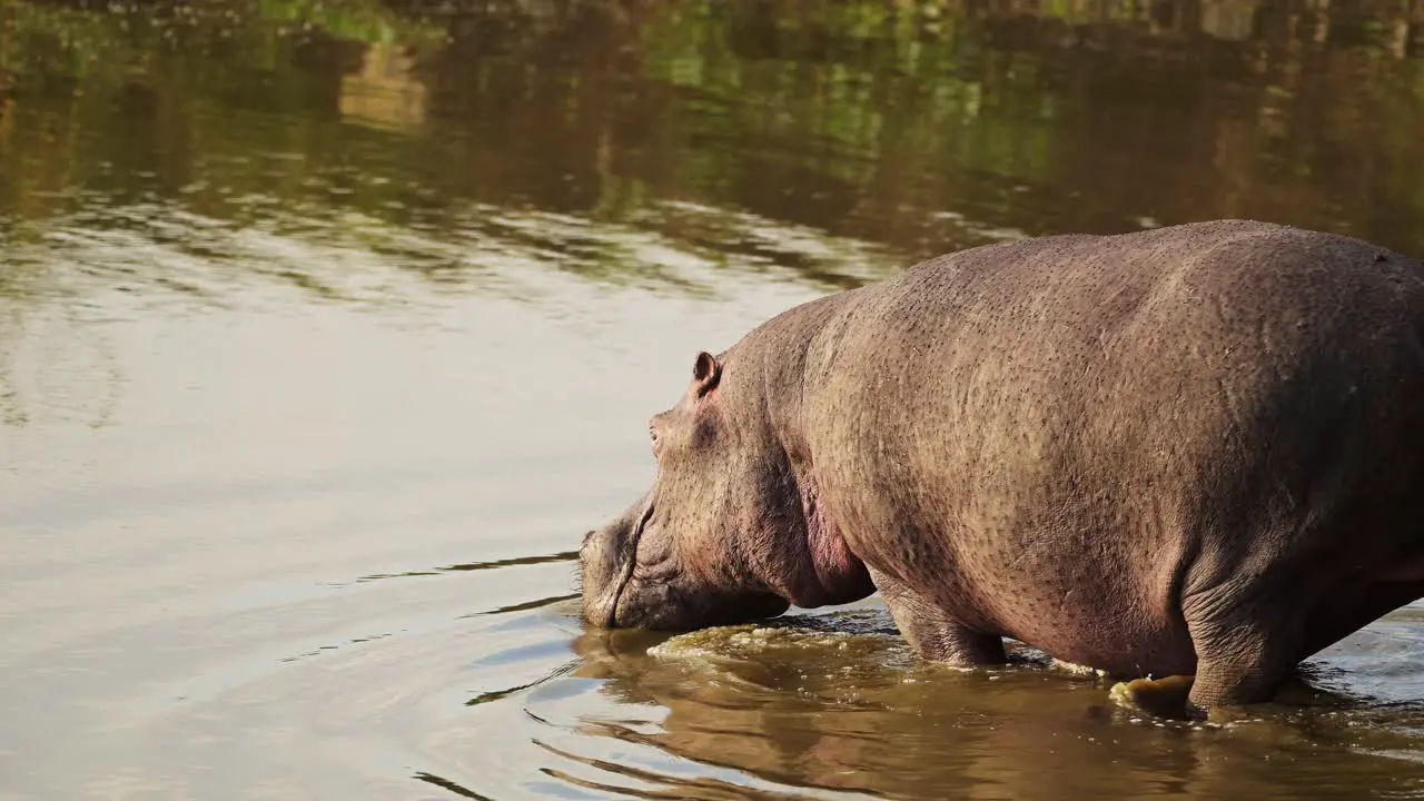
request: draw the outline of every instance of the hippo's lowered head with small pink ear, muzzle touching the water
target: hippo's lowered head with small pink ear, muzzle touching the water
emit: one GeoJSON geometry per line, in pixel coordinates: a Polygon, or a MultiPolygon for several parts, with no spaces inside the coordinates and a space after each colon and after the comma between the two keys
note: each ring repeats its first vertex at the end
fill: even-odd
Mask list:
{"type": "Polygon", "coordinates": [[[815,489],[793,475],[756,372],[698,353],[686,393],[649,422],[652,489],[580,550],[590,624],[685,631],[874,590],[824,516],[807,520],[815,489]]]}

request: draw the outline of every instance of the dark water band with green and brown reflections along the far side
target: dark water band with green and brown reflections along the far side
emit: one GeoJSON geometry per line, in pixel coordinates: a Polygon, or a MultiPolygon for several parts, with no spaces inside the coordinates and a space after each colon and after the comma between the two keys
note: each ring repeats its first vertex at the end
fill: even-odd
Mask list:
{"type": "MultiPolygon", "coordinates": [[[[1424,23],[1396,6],[19,1],[0,198],[21,235],[95,204],[138,205],[105,227],[303,210],[436,237],[537,210],[830,286],[860,277],[739,215],[896,265],[1210,217],[1417,254],[1424,23]]],[[[595,281],[658,279],[597,241],[541,244],[595,281]]],[[[476,272],[390,247],[430,281],[476,272]]]]}

